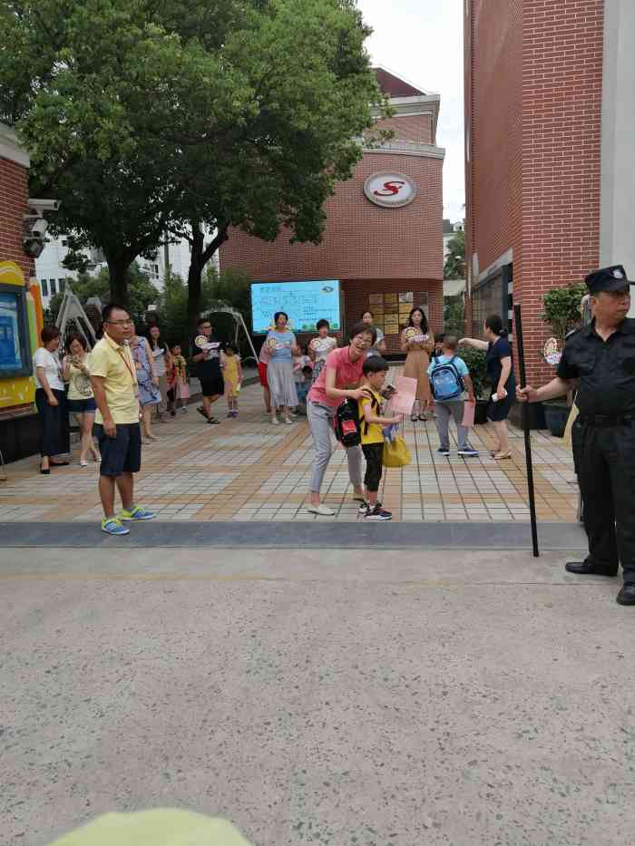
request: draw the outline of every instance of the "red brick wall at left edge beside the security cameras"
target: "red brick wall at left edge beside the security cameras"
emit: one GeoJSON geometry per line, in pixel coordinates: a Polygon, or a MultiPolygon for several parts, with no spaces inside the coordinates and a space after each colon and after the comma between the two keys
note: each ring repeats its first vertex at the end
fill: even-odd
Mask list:
{"type": "Polygon", "coordinates": [[[0,158],[0,261],[15,261],[24,277],[35,275],[34,263],[22,249],[23,215],[28,213],[28,171],[14,161],[0,158]]]}

